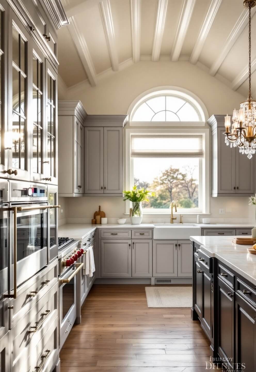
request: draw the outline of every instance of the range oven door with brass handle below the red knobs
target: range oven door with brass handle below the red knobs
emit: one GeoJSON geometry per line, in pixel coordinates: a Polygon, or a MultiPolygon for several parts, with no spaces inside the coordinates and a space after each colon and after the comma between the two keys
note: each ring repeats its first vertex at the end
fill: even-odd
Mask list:
{"type": "Polygon", "coordinates": [[[83,267],[83,263],[75,263],[59,278],[60,349],[77,317],[77,274],[83,267]]]}

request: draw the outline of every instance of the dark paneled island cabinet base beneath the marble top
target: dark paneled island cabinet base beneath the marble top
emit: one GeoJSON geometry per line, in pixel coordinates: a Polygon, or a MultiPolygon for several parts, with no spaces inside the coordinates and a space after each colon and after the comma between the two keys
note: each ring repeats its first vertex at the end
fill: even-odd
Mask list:
{"type": "MultiPolygon", "coordinates": [[[[199,238],[191,237],[194,259],[191,318],[200,321],[210,340],[211,363],[222,361],[227,371],[255,372],[255,281],[244,278],[233,265],[231,268],[221,259],[212,257],[217,255],[206,254],[203,244],[198,244],[199,238]]],[[[254,255],[244,248],[241,258],[248,261],[250,256],[254,255]]],[[[253,267],[256,267],[255,259],[253,257],[253,267]]]]}

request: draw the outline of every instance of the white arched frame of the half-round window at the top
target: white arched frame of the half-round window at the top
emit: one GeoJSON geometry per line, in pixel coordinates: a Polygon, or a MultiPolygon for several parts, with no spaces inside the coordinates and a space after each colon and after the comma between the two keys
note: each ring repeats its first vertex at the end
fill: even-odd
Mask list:
{"type": "Polygon", "coordinates": [[[143,92],[138,97],[136,97],[133,102],[130,104],[127,114],[130,118],[130,126],[205,126],[205,122],[208,119],[208,112],[204,103],[192,92],[187,89],[176,87],[176,86],[160,86],[143,92]],[[145,102],[146,100],[157,97],[159,95],[173,95],[178,98],[186,100],[192,106],[195,107],[197,112],[201,117],[201,121],[133,121],[133,115],[137,108],[145,102]]]}

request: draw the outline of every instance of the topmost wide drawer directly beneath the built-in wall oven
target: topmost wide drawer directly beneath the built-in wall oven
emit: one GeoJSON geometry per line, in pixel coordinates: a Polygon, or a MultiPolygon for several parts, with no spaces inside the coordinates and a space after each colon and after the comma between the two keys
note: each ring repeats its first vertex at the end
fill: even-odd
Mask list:
{"type": "Polygon", "coordinates": [[[17,289],[16,299],[10,299],[10,328],[13,328],[56,282],[58,259],[21,285],[17,289]]]}

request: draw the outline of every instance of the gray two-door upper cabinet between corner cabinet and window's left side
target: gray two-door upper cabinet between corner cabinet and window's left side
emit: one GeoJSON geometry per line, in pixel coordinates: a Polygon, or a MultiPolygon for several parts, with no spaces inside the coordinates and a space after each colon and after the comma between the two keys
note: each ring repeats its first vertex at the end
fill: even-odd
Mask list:
{"type": "Polygon", "coordinates": [[[123,126],[126,115],[85,120],[85,195],[123,195],[123,126]]]}

